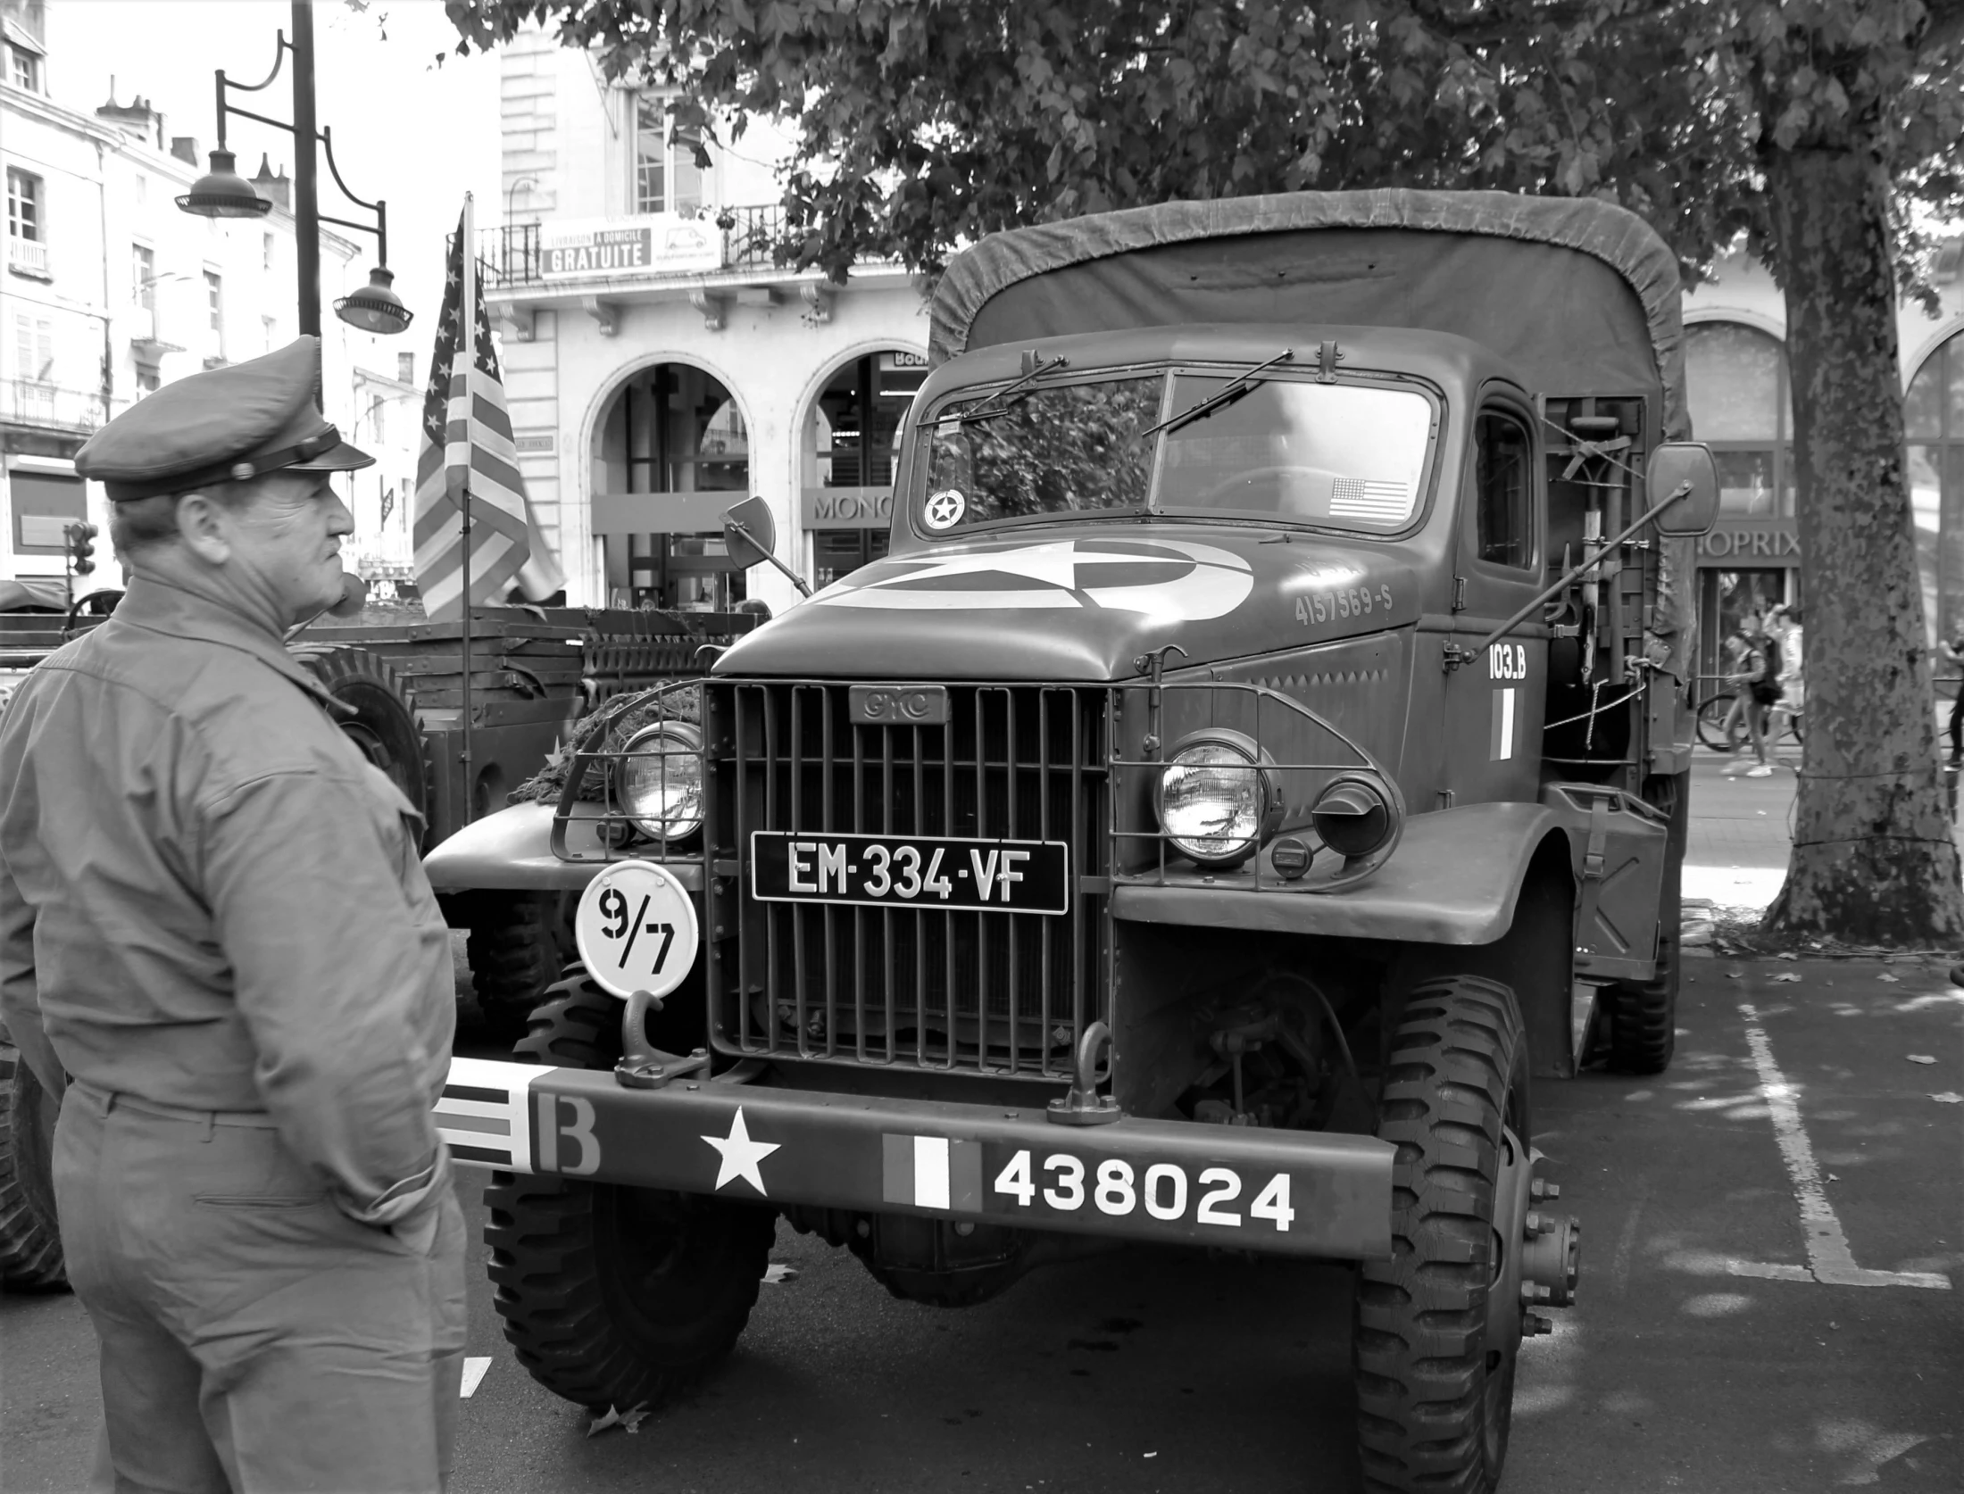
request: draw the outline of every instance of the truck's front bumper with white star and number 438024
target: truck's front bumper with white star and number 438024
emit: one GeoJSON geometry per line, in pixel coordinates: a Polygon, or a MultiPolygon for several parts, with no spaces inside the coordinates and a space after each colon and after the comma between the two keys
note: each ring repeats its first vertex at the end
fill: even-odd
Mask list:
{"type": "Polygon", "coordinates": [[[1391,1256],[1394,1148],[1188,1121],[1066,1127],[956,1105],[454,1058],[436,1121],[458,1162],[856,1213],[1391,1256]]]}

